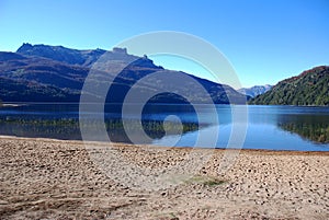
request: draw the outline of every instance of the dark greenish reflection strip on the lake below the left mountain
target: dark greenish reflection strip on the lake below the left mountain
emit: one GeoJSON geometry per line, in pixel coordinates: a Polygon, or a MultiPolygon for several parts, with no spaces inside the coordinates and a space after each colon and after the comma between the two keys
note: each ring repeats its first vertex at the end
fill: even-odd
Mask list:
{"type": "MultiPolygon", "coordinates": [[[[31,138],[55,138],[63,140],[81,140],[79,120],[73,118],[22,118],[20,116],[0,116],[0,134],[18,137],[31,138]]],[[[132,119],[127,121],[129,128],[134,130],[137,127],[138,120],[132,119]]],[[[175,121],[167,121],[166,130],[161,120],[143,120],[141,123],[145,132],[152,139],[160,139],[166,135],[178,135],[195,131],[200,127],[195,123],[183,123],[182,130],[180,124],[175,121]]],[[[98,132],[98,123],[90,120],[88,125],[91,130],[98,132]]],[[[122,119],[106,119],[106,131],[110,140],[114,142],[131,143],[127,137],[122,119]]],[[[138,136],[138,132],[132,134],[138,136]]],[[[140,140],[141,141],[141,140],[140,140]]],[[[141,141],[141,143],[151,143],[141,141]]]]}

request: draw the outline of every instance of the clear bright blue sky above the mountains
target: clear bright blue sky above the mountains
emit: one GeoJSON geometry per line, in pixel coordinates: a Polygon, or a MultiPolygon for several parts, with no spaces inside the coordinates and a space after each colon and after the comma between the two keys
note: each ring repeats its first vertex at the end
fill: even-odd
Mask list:
{"type": "MultiPolygon", "coordinates": [[[[111,49],[155,31],[186,32],[212,43],[243,86],[275,84],[329,65],[328,0],[0,0],[2,51],[22,43],[111,49]]],[[[168,69],[208,77],[183,60],[152,58],[168,69]]]]}

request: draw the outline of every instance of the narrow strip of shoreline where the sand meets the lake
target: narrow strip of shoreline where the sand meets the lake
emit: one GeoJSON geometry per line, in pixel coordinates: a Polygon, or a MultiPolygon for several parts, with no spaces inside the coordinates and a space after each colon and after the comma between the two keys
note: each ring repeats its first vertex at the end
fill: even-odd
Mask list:
{"type": "MultiPolygon", "coordinates": [[[[16,137],[16,136],[4,136],[0,135],[0,139],[20,139],[20,140],[39,140],[46,142],[67,142],[75,144],[84,144],[93,143],[93,144],[106,144],[106,142],[101,141],[83,141],[83,140],[63,140],[63,139],[54,139],[54,138],[30,138],[30,137],[16,137]]],[[[194,147],[167,147],[167,146],[155,146],[155,144],[133,144],[133,143],[124,143],[124,142],[111,142],[113,147],[139,147],[139,148],[154,148],[154,149],[182,149],[182,150],[214,150],[214,151],[242,151],[242,152],[259,152],[264,154],[291,154],[291,155],[329,155],[328,151],[298,151],[298,150],[269,150],[269,149],[224,149],[224,148],[194,148],[194,147]]]]}

